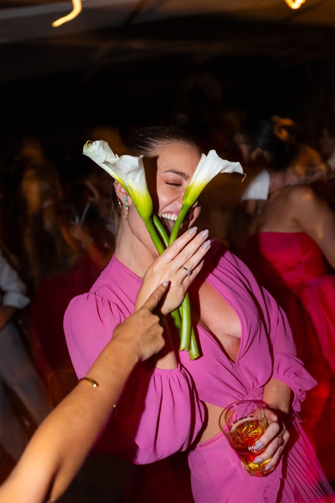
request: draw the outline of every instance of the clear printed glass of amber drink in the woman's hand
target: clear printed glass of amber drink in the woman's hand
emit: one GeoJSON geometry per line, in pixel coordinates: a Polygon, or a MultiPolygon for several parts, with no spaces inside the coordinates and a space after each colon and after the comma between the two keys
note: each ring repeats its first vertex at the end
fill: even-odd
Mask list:
{"type": "Polygon", "coordinates": [[[262,402],[241,400],[228,405],[221,412],[219,426],[249,475],[263,477],[271,473],[274,468],[264,471],[271,458],[254,462],[265,451],[254,447],[268,427],[262,402]]]}

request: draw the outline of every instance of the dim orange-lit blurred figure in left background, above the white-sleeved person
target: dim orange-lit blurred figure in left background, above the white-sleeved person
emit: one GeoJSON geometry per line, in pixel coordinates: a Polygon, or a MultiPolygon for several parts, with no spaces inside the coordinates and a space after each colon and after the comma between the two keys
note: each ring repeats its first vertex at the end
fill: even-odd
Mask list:
{"type": "Polygon", "coordinates": [[[32,288],[36,291],[45,278],[69,269],[77,256],[78,244],[68,231],[57,170],[38,144],[25,143],[21,158],[25,166],[21,179],[23,242],[32,288]]]}

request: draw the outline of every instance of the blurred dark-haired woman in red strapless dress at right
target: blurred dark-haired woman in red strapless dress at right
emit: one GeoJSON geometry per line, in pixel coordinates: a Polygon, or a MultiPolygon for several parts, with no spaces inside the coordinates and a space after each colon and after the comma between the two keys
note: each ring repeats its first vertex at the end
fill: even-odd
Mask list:
{"type": "MultiPolygon", "coordinates": [[[[280,127],[283,130],[285,124],[280,127]]],[[[245,133],[247,162],[264,163],[274,171],[289,165],[289,176],[294,170],[313,172],[322,158],[308,145],[297,145],[289,127],[278,135],[276,121],[251,124],[249,136],[245,133]]],[[[318,382],[303,405],[304,428],[329,473],[327,458],[333,456],[335,441],[331,426],[335,414],[335,277],[326,274],[325,261],[335,268],[335,216],[311,187],[288,186],[258,203],[249,233],[244,260],[286,312],[298,356],[318,382]]]]}

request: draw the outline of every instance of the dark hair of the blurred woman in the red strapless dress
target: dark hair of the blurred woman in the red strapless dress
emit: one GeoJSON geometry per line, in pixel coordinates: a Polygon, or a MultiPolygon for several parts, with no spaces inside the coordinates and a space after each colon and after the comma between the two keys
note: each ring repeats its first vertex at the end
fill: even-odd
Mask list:
{"type": "Polygon", "coordinates": [[[240,134],[243,137],[243,142],[251,145],[253,150],[261,148],[270,152],[274,168],[286,164],[295,150],[294,143],[284,141],[276,136],[272,121],[258,120],[246,124],[240,134]]]}

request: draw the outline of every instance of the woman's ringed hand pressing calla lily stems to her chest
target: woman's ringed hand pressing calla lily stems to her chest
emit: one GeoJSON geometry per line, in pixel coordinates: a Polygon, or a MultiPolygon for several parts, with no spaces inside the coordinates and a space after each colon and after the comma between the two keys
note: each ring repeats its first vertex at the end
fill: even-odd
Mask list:
{"type": "Polygon", "coordinates": [[[203,257],[210,246],[208,231],[196,234],[196,227],[189,229],[171,244],[149,267],[143,278],[135,310],[143,304],[149,293],[163,281],[170,281],[168,292],[161,303],[161,314],[166,315],[179,307],[189,285],[200,272],[203,257]],[[191,274],[188,275],[186,269],[191,274]]]}

